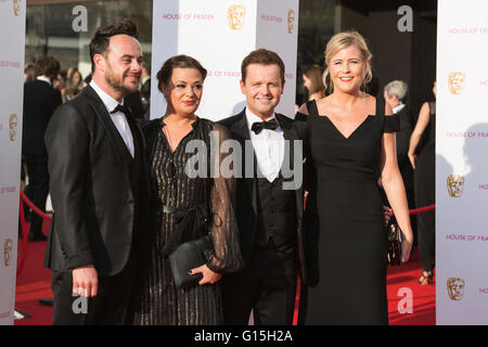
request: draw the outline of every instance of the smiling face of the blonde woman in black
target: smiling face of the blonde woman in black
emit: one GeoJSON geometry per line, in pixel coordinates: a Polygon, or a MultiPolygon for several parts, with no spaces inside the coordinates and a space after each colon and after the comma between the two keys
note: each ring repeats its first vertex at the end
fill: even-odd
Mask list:
{"type": "Polygon", "coordinates": [[[369,62],[354,44],[337,51],[328,63],[334,90],[359,92],[364,80],[369,62]]]}

